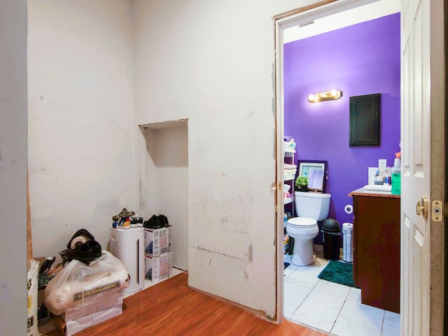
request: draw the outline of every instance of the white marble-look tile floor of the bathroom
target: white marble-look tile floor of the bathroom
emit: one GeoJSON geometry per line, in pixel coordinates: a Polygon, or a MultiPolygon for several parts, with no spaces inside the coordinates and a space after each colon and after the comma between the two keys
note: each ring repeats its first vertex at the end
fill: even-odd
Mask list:
{"type": "MultiPolygon", "coordinates": [[[[285,255],[290,262],[290,255],[285,255]]],[[[361,303],[360,289],[318,279],[328,260],[285,269],[285,318],[336,336],[398,336],[400,315],[361,303]]]]}

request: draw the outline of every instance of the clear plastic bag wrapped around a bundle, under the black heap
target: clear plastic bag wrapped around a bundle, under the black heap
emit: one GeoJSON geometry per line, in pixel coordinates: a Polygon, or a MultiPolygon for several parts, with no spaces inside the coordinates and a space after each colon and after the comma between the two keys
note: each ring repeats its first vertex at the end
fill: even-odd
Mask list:
{"type": "Polygon", "coordinates": [[[43,300],[48,310],[59,315],[123,293],[129,280],[123,262],[110,252],[102,251],[101,259],[94,264],[71,260],[48,282],[43,300]]]}

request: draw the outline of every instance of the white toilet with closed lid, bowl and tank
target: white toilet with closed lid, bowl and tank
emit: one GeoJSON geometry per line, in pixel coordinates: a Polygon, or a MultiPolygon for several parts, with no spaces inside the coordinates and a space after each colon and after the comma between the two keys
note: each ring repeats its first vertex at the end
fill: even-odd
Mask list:
{"type": "Polygon", "coordinates": [[[314,262],[313,239],[318,235],[317,221],[328,217],[330,194],[296,191],[295,211],[298,217],[286,223],[286,232],[294,239],[293,265],[306,266],[314,262]]]}

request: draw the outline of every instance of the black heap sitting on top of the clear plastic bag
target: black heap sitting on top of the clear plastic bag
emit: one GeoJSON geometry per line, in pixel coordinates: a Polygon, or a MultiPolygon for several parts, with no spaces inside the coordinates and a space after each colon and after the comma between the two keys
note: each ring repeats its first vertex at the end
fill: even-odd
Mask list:
{"type": "Polygon", "coordinates": [[[73,259],[84,262],[85,265],[102,256],[101,245],[94,239],[92,234],[85,229],[76,231],[71,237],[67,248],[59,252],[64,262],[73,259]]]}

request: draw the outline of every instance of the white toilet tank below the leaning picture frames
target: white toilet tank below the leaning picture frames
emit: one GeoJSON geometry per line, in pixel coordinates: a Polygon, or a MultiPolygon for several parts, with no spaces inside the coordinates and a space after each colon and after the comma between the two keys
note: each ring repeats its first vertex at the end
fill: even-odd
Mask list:
{"type": "Polygon", "coordinates": [[[316,221],[323,221],[328,217],[330,194],[296,191],[294,196],[295,211],[299,217],[313,218],[316,221]]]}

